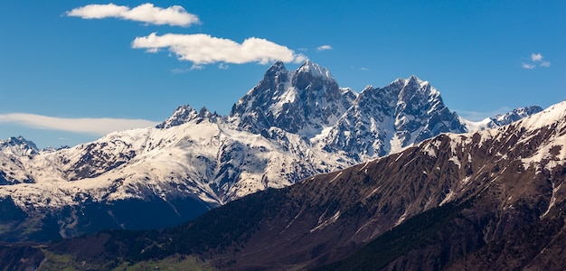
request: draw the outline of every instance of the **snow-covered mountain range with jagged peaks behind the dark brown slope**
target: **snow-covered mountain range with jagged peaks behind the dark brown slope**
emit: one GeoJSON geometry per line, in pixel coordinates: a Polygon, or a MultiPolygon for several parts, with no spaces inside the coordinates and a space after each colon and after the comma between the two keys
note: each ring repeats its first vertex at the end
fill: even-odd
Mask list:
{"type": "Polygon", "coordinates": [[[276,62],[229,116],[186,105],[156,127],[59,150],[38,150],[22,137],[0,142],[0,240],[172,227],[255,192],[541,110],[474,123],[415,76],[358,94],[312,61],[292,71],[276,62]]]}

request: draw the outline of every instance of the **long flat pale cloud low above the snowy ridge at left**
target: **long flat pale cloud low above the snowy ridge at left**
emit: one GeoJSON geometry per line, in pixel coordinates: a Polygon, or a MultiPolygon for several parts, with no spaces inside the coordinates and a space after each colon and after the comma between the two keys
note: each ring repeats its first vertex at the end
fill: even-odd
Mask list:
{"type": "Polygon", "coordinates": [[[157,123],[146,119],[127,118],[66,118],[47,117],[34,114],[14,113],[0,115],[0,123],[13,123],[43,130],[67,131],[88,135],[107,135],[115,131],[156,126],[157,123]]]}

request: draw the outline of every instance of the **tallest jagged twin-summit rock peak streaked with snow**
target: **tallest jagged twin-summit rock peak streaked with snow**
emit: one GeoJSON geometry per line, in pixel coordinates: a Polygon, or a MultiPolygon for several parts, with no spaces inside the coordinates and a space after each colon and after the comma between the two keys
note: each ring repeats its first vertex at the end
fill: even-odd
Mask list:
{"type": "Polygon", "coordinates": [[[315,63],[307,61],[290,72],[278,62],[232,107],[231,119],[253,133],[276,126],[311,137],[334,125],[354,98],[354,91],[340,89],[315,63]]]}

